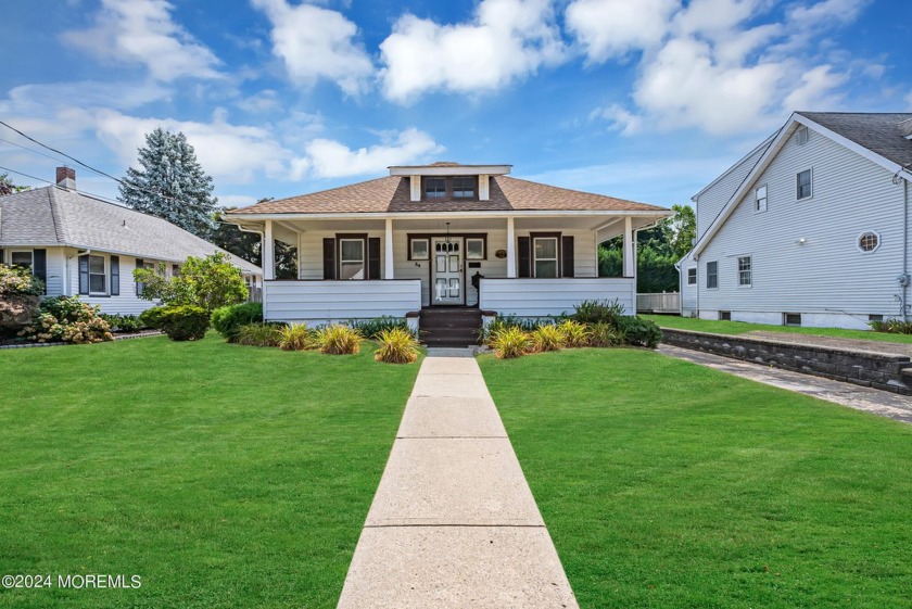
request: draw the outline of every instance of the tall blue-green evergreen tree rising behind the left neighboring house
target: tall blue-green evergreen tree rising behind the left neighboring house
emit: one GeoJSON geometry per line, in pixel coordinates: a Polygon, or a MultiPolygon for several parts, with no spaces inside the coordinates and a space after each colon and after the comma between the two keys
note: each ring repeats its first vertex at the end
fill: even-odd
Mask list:
{"type": "Polygon", "coordinates": [[[145,136],[145,147],[139,149],[139,164],[141,169],[127,169],[119,200],[138,212],[210,239],[217,199],[212,195],[212,178],[197,162],[187,137],[155,128],[145,136]]]}

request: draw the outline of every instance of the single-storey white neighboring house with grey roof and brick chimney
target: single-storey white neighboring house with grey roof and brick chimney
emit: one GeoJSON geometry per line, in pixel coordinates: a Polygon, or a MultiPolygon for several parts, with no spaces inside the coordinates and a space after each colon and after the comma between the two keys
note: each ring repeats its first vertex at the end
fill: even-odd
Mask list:
{"type": "MultiPolygon", "coordinates": [[[[107,314],[137,315],[153,305],[139,297],[136,268],[225,252],[161,218],[76,191],[76,174],[58,169],[58,185],[0,196],[0,263],[28,267],[48,296],[79,295],[107,314]]],[[[230,255],[230,254],[229,254],[230,255]]],[[[263,271],[231,261],[253,288],[263,271]]]]}

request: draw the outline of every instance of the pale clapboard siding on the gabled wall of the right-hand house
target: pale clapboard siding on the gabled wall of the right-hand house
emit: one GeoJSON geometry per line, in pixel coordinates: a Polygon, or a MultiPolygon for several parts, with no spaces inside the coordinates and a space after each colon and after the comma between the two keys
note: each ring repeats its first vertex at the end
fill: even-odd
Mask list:
{"type": "MultiPolygon", "coordinates": [[[[902,186],[891,178],[822,134],[812,130],[803,144],[793,136],[757,179],[768,188],[768,210],[755,212],[751,189],[700,254],[700,315],[731,310],[733,319],[782,322],[782,313],[801,313],[806,325],[843,325],[854,316],[862,327],[867,315],[898,315],[904,203],[902,186]],[[797,201],[796,175],[805,169],[813,173],[813,194],[797,201]],[[881,245],[862,253],[858,238],[867,230],[879,234],[881,245]],[[752,262],[749,288],[737,281],[737,258],[745,255],[752,262]],[[709,290],[712,261],[719,262],[719,288],[709,290]]],[[[681,265],[685,282],[689,264],[681,265]]],[[[692,302],[686,292],[684,302],[692,302]]]]}

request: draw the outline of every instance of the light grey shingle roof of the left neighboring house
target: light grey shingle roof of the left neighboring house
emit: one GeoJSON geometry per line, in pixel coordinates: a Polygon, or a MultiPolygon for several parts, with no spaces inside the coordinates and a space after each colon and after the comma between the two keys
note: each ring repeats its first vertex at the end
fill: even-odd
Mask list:
{"type": "MultiPolygon", "coordinates": [[[[3,245],[67,245],[168,262],[224,252],[161,218],[53,186],[0,196],[3,245]]],[[[262,272],[229,255],[244,271],[262,272]]]]}

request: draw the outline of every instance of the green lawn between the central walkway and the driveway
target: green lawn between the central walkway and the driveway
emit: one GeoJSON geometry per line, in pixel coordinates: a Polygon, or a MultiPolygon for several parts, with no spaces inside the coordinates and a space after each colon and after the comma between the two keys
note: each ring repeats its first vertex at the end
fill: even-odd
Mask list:
{"type": "Polygon", "coordinates": [[[480,364],[581,607],[912,607],[912,427],[639,350],[480,364]]]}

